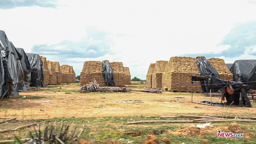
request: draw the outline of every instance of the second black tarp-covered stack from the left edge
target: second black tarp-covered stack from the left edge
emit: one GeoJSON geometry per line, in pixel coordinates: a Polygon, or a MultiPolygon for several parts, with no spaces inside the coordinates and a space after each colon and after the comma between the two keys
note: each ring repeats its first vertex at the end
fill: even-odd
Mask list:
{"type": "Polygon", "coordinates": [[[10,43],[10,52],[9,52],[8,56],[14,54],[14,58],[15,58],[14,64],[16,64],[16,68],[14,68],[14,72],[15,72],[15,76],[18,77],[18,82],[16,83],[17,86],[16,86],[16,89],[15,89],[13,95],[19,95],[19,91],[27,91],[27,87],[25,85],[25,82],[23,81],[24,73],[23,73],[23,65],[21,64],[22,55],[14,47],[12,42],[9,42],[9,43],[10,43]]]}

